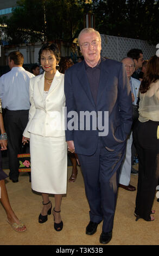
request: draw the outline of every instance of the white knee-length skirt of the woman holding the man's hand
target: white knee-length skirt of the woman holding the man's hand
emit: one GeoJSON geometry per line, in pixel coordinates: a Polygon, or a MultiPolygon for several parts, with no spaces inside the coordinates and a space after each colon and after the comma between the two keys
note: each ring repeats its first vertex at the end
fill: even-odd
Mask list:
{"type": "Polygon", "coordinates": [[[30,133],[31,188],[37,192],[66,194],[67,143],[65,136],[42,137],[30,133]]]}

